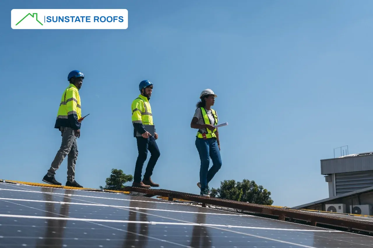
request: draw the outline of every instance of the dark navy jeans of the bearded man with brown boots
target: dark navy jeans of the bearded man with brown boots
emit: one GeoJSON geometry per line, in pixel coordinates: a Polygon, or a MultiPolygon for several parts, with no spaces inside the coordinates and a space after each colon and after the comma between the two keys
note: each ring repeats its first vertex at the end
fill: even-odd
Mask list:
{"type": "Polygon", "coordinates": [[[160,152],[156,143],[156,139],[153,136],[145,139],[143,137],[136,137],[137,139],[137,150],[139,155],[136,160],[134,182],[141,182],[142,166],[148,156],[148,150],[150,152],[150,159],[146,166],[144,178],[148,178],[153,174],[154,166],[160,156],[160,152]]]}

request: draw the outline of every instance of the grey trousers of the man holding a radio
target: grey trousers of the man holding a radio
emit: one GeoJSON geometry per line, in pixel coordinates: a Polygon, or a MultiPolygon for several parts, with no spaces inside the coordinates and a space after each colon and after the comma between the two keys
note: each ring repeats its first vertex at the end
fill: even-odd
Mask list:
{"type": "Polygon", "coordinates": [[[68,155],[68,181],[73,182],[75,179],[75,165],[76,159],[78,159],[78,143],[74,135],[74,130],[70,127],[61,127],[62,143],[58,150],[56,157],[54,158],[50,168],[48,169],[48,175],[56,175],[57,169],[60,167],[63,159],[68,155]]]}

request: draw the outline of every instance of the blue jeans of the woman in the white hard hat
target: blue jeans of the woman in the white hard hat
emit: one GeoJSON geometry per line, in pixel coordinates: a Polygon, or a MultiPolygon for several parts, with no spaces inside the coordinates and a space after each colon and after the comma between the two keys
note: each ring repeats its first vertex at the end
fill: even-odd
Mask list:
{"type": "Polygon", "coordinates": [[[222,167],[222,158],[220,157],[220,150],[215,138],[204,140],[197,137],[195,139],[195,146],[201,159],[200,184],[201,190],[204,190],[216,172],[222,167]],[[209,169],[210,158],[213,165],[209,169]]]}

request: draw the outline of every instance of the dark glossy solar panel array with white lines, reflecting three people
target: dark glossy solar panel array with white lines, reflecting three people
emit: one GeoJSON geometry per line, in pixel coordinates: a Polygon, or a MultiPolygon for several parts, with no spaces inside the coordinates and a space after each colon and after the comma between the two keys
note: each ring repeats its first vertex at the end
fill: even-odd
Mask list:
{"type": "Polygon", "coordinates": [[[373,237],[128,194],[0,183],[0,247],[369,247],[373,237]]]}

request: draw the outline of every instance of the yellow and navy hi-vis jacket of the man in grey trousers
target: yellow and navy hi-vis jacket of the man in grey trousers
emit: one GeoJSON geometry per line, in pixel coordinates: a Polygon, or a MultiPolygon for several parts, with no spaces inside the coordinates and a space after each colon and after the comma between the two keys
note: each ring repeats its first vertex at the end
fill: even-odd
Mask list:
{"type": "Polygon", "coordinates": [[[80,129],[81,123],[79,123],[78,120],[81,117],[82,110],[78,88],[70,83],[69,87],[66,88],[62,94],[54,127],[71,127],[75,130],[80,129]]]}

